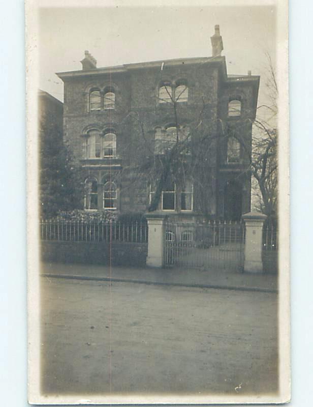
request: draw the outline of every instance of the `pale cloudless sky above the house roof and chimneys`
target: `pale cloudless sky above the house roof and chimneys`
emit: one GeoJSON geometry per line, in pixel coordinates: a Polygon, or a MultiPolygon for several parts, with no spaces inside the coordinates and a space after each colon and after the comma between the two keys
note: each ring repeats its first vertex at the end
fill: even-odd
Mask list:
{"type": "Polygon", "coordinates": [[[41,8],[40,89],[63,100],[55,72],[80,70],[85,49],[98,67],[210,56],[220,24],[228,73],[261,75],[261,104],[264,52],[275,61],[275,19],[274,6],[41,8]]]}

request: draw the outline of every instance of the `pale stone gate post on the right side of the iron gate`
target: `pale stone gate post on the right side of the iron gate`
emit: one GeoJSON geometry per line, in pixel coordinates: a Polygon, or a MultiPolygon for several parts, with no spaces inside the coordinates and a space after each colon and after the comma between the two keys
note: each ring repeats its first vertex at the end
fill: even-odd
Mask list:
{"type": "Polygon", "coordinates": [[[242,216],[245,223],[245,245],[243,271],[262,273],[263,223],[267,218],[261,212],[249,212],[242,216]]]}

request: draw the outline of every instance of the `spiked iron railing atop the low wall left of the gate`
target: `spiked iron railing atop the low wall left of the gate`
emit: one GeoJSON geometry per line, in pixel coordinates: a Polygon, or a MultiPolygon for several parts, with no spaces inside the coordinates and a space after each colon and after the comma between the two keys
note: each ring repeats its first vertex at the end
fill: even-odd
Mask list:
{"type": "Polygon", "coordinates": [[[147,243],[148,226],[146,222],[41,220],[40,237],[54,241],[147,243]]]}

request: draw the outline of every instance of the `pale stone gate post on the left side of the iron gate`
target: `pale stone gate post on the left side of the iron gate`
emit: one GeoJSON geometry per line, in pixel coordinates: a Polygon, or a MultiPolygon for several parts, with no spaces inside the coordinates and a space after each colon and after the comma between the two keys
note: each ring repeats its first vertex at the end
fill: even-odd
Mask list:
{"type": "Polygon", "coordinates": [[[147,266],[164,266],[165,215],[158,212],[146,215],[148,222],[147,266]]]}

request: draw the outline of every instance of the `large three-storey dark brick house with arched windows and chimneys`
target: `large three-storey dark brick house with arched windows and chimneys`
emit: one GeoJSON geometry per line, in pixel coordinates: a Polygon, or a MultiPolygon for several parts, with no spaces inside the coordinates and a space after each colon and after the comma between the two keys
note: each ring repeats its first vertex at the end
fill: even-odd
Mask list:
{"type": "MultiPolygon", "coordinates": [[[[195,173],[202,168],[202,180],[210,175],[198,184],[195,173],[180,185],[168,180],[155,209],[182,218],[207,209],[212,219],[231,220],[249,212],[260,78],[227,74],[218,25],[211,43],[211,57],[105,68],[85,51],[82,70],[57,73],[64,82],[64,138],[82,169],[85,210],[146,212],[155,193],[149,159],[188,139],[205,151],[195,173]],[[139,176],[145,161],[146,177],[142,169],[139,176]]],[[[193,148],[181,154],[195,160],[193,148]]]]}

